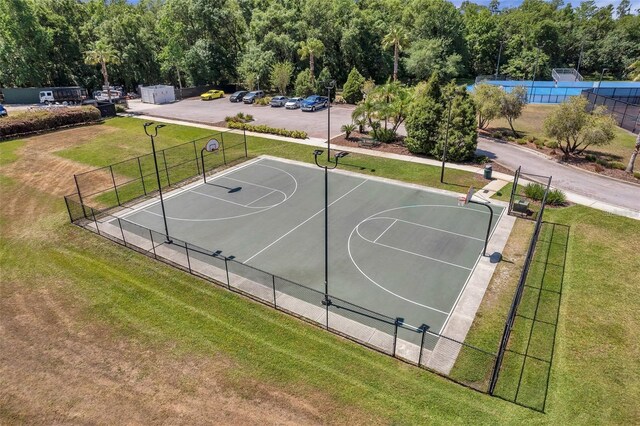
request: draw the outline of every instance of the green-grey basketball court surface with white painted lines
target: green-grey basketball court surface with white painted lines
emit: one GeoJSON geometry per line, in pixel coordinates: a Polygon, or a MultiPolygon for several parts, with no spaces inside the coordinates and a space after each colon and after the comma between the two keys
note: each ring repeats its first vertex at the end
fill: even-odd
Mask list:
{"type": "MultiPolygon", "coordinates": [[[[488,209],[340,169],[328,187],[329,294],[443,330],[482,255],[488,209]]],[[[171,237],[323,291],[322,169],[260,157],[166,194],[165,207],[171,237]]],[[[504,209],[492,207],[495,229],[504,209]]],[[[121,218],[164,233],[157,200],[121,218]]]]}

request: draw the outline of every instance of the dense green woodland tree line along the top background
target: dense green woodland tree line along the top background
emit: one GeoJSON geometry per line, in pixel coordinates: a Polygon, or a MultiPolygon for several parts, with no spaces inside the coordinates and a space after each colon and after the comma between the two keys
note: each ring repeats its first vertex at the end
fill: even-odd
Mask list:
{"type": "MultiPolygon", "coordinates": [[[[109,79],[137,84],[270,86],[278,64],[291,83],[366,79],[417,83],[496,72],[550,78],[553,67],[624,78],[640,58],[640,16],[584,1],[524,0],[500,10],[446,0],[2,0],[0,86],[99,87],[97,45],[114,52],[109,79]],[[582,53],[581,53],[582,52],[582,53]],[[306,80],[310,80],[307,82],[306,80]]],[[[286,79],[285,79],[286,80],[286,79]]],[[[275,86],[275,84],[273,84],[275,86]]]]}

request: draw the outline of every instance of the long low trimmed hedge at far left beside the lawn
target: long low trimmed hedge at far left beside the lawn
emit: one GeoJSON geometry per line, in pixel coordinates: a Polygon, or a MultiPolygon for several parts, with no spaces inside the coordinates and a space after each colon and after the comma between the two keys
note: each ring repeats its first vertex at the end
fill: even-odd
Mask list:
{"type": "Polygon", "coordinates": [[[35,109],[0,119],[0,139],[100,120],[92,106],[35,109]]]}

